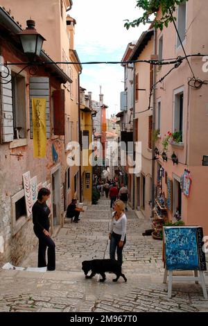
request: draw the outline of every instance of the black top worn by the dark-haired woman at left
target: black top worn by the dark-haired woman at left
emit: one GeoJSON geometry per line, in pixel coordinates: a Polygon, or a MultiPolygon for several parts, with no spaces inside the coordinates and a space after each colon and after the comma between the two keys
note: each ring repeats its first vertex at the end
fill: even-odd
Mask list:
{"type": "Polygon", "coordinates": [[[49,231],[50,222],[49,222],[49,214],[50,209],[46,205],[46,202],[39,203],[38,201],[35,202],[33,205],[33,224],[34,224],[34,231],[37,233],[43,232],[45,229],[49,231]]]}

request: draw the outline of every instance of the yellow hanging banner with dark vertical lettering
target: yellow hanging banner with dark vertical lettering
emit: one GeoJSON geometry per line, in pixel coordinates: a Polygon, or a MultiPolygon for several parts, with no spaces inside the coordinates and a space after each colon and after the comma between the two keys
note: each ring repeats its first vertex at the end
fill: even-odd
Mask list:
{"type": "Polygon", "coordinates": [[[32,98],[33,156],[46,156],[46,98],[32,98]]]}

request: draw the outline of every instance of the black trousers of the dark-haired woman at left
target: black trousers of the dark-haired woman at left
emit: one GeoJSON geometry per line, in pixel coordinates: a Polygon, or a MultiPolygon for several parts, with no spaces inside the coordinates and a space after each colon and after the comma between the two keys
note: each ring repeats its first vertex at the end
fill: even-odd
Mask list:
{"type": "Polygon", "coordinates": [[[48,271],[55,270],[55,243],[50,237],[46,237],[44,233],[36,234],[36,237],[39,239],[38,246],[38,262],[37,267],[45,267],[47,266],[48,271]],[[48,256],[48,264],[46,264],[46,248],[47,256],[48,256]]]}

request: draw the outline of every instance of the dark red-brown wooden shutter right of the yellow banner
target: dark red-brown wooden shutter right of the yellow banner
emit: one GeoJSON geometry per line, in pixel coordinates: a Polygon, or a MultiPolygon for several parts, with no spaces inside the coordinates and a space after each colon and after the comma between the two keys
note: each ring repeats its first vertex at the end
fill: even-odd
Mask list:
{"type": "Polygon", "coordinates": [[[65,135],[65,92],[64,89],[53,91],[54,135],[65,135]]]}

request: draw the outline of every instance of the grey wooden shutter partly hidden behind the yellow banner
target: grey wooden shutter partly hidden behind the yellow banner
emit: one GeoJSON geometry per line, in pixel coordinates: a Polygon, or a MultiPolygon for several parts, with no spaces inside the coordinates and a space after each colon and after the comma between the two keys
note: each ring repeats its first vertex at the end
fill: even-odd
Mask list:
{"type": "Polygon", "coordinates": [[[49,107],[49,77],[31,77],[30,78],[30,125],[31,138],[33,138],[33,114],[32,114],[32,97],[46,98],[46,138],[51,135],[50,124],[50,107],[49,107]]]}

